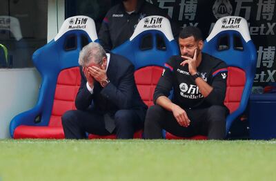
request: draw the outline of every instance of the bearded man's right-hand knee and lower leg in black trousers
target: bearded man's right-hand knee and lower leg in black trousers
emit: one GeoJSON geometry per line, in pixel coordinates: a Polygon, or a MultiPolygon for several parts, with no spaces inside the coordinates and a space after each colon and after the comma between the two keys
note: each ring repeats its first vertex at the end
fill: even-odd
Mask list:
{"type": "Polygon", "coordinates": [[[222,140],[226,135],[228,109],[224,106],[210,106],[207,111],[208,139],[222,140]]]}

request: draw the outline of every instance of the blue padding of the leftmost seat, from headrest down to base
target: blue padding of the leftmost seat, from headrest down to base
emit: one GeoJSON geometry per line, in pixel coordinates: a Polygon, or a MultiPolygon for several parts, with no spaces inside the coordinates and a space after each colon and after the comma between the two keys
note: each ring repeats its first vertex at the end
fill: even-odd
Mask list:
{"type": "MultiPolygon", "coordinates": [[[[14,129],[19,125],[47,126],[52,112],[52,105],[55,97],[57,77],[61,70],[79,66],[79,51],[81,50],[81,36],[88,38],[84,30],[70,30],[65,32],[57,41],[52,40],[45,46],[39,48],[32,55],[34,66],[41,74],[41,88],[37,105],[29,111],[15,116],[10,122],[10,135],[13,137],[14,129]],[[77,47],[73,50],[65,50],[65,41],[70,36],[77,37],[77,47]],[[41,122],[35,124],[34,119],[40,115],[41,122]]],[[[95,40],[98,42],[98,40],[95,40]]],[[[26,80],[28,81],[28,80],[26,80]]]]}

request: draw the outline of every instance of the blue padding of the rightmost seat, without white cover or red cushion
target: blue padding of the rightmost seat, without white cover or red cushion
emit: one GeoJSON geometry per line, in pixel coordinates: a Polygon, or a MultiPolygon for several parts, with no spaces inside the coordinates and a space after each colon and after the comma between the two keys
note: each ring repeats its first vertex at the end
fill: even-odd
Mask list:
{"type": "MultiPolygon", "coordinates": [[[[250,40],[246,43],[242,35],[236,30],[224,30],[219,32],[210,41],[204,41],[204,53],[208,53],[222,59],[228,64],[228,66],[234,66],[237,68],[242,68],[246,73],[246,84],[244,86],[244,91],[242,93],[242,99],[236,111],[228,115],[226,119],[226,133],[228,133],[233,121],[242,113],[244,113],[248,98],[251,93],[251,88],[253,86],[253,81],[255,77],[255,68],[257,64],[257,53],[253,41],[250,40]],[[229,48],[228,50],[217,50],[219,38],[228,36],[229,37],[229,48]],[[244,50],[235,50],[234,48],[234,37],[240,37],[242,39],[242,46],[244,50]]],[[[237,77],[239,78],[239,77],[237,77]]]]}

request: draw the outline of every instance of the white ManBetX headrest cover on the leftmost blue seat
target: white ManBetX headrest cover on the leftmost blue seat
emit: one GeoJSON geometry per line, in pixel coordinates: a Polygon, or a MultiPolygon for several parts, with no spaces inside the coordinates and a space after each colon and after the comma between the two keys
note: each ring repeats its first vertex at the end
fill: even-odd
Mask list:
{"type": "Polygon", "coordinates": [[[92,41],[96,41],[98,39],[95,21],[90,17],[75,16],[69,17],[63,22],[59,32],[55,37],[55,41],[57,41],[62,35],[66,34],[66,32],[70,30],[83,30],[88,34],[92,41]]]}

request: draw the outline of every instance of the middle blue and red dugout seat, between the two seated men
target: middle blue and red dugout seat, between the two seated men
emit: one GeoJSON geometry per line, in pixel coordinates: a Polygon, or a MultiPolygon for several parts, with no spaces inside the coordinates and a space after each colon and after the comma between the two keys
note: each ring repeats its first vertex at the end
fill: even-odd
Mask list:
{"type": "MultiPolygon", "coordinates": [[[[111,52],[132,61],[135,65],[135,82],[141,99],[147,106],[152,106],[153,93],[164,64],[170,56],[179,54],[179,48],[172,36],[170,21],[165,17],[150,16],[141,19],[130,39],[111,52]]],[[[139,137],[141,134],[142,131],[135,133],[139,137]]],[[[89,137],[99,138],[99,135],[89,135],[89,137]]]]}

